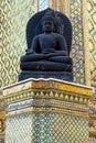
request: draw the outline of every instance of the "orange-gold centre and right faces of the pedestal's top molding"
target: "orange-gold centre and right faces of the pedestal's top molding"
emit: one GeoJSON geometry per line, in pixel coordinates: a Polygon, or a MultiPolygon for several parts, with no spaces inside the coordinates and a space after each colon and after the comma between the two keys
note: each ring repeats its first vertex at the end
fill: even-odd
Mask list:
{"type": "Polygon", "coordinates": [[[78,94],[78,95],[86,95],[90,96],[93,94],[92,89],[82,87],[81,85],[75,84],[68,84],[68,82],[58,82],[58,81],[33,81],[32,82],[32,89],[55,89],[56,91],[67,91],[72,94],[78,94]]]}

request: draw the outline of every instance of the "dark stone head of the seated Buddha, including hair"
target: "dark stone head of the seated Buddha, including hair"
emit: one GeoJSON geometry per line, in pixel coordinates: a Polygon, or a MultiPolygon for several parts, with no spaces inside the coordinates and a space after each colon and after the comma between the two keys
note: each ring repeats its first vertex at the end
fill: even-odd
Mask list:
{"type": "Polygon", "coordinates": [[[55,19],[52,15],[44,15],[42,19],[42,31],[50,33],[53,32],[55,28],[55,19]]]}

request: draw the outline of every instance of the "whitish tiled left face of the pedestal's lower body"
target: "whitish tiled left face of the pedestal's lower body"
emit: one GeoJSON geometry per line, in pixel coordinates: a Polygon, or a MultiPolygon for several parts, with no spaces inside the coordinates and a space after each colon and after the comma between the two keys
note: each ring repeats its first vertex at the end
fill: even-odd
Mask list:
{"type": "Polygon", "coordinates": [[[33,114],[7,118],[6,143],[31,143],[33,114]]]}

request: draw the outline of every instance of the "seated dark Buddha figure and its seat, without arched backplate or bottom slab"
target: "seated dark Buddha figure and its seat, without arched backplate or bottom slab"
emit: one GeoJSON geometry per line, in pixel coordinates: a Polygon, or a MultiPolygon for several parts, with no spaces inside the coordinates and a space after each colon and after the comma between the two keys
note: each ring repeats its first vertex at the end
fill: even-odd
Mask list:
{"type": "Polygon", "coordinates": [[[55,18],[46,12],[41,20],[42,33],[33,37],[31,47],[21,57],[22,72],[72,73],[72,58],[68,56],[66,40],[55,32],[55,18]]]}

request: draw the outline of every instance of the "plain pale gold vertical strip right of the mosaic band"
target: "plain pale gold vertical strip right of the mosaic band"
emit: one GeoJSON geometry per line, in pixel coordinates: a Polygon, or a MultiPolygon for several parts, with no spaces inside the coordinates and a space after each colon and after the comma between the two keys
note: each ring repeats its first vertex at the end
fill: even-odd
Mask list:
{"type": "Polygon", "coordinates": [[[83,28],[84,28],[84,51],[85,51],[85,79],[86,85],[90,86],[90,54],[89,54],[89,34],[88,34],[88,4],[86,0],[83,0],[83,28]]]}

